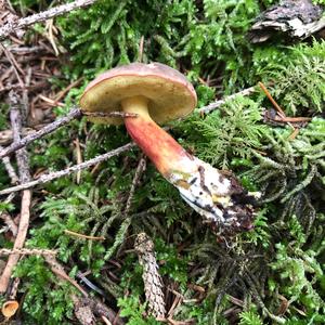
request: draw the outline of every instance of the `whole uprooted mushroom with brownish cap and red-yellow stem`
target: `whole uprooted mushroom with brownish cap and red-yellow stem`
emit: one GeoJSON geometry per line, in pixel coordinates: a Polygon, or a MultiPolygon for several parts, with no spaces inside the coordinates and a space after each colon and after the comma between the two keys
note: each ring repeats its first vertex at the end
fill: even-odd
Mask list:
{"type": "Polygon", "coordinates": [[[196,106],[195,90],[181,73],[160,63],[119,66],[91,81],[80,105],[87,113],[136,114],[123,119],[90,119],[108,125],[125,122],[128,133],[164,178],[216,231],[234,233],[252,227],[253,195],[230,172],[187,153],[157,125],[188,115],[196,106]]]}

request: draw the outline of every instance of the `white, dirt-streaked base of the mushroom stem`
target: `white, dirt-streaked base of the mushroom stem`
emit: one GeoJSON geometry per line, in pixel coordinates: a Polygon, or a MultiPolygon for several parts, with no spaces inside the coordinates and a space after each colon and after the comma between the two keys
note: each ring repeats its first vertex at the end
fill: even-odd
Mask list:
{"type": "Polygon", "coordinates": [[[168,180],[206,222],[218,227],[249,229],[247,223],[242,224],[245,220],[250,221],[252,213],[250,204],[245,203],[249,194],[232,174],[219,171],[196,157],[184,159],[182,167],[182,172],[172,171],[168,180]],[[236,195],[244,202],[238,203],[236,195]]]}

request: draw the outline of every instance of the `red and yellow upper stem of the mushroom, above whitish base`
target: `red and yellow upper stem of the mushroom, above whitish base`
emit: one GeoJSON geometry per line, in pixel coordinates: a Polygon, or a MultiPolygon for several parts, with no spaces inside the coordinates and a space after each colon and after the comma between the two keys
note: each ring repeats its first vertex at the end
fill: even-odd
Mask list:
{"type": "Polygon", "coordinates": [[[193,157],[151,118],[147,102],[144,96],[121,102],[123,112],[138,114],[135,118],[125,118],[129,134],[167,180],[171,181],[174,171],[191,172],[186,169],[193,157]]]}

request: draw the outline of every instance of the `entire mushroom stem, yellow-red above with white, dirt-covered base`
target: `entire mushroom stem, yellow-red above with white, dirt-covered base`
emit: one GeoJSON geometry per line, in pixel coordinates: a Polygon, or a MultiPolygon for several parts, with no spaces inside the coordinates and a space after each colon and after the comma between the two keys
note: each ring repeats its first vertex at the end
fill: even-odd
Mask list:
{"type": "Polygon", "coordinates": [[[179,191],[183,199],[207,222],[223,224],[230,232],[252,227],[253,196],[247,193],[226,172],[190,155],[148,113],[148,100],[132,96],[121,102],[123,112],[135,118],[125,118],[127,130],[134,142],[155,164],[160,173],[179,191]]]}

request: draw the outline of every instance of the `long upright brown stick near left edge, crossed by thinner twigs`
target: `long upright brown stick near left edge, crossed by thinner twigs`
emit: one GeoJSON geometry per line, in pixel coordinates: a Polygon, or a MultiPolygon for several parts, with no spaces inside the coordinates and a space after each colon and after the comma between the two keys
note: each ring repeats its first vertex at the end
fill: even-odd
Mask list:
{"type": "MultiPolygon", "coordinates": [[[[14,92],[9,93],[9,99],[11,103],[11,125],[14,134],[14,141],[21,140],[21,130],[22,130],[22,116],[20,113],[20,99],[14,92]]],[[[20,181],[22,183],[28,182],[30,180],[29,167],[28,167],[28,157],[25,148],[22,148],[16,152],[16,159],[18,165],[20,181]]],[[[29,214],[30,214],[30,202],[31,202],[31,191],[23,191],[22,195],[22,206],[21,206],[21,219],[18,225],[18,233],[15,238],[14,249],[21,249],[24,247],[26,239],[28,226],[29,226],[29,214]]],[[[0,277],[0,292],[5,292],[8,289],[9,281],[12,274],[13,269],[20,260],[20,255],[11,255],[6,261],[6,265],[3,270],[3,273],[0,277]]]]}

